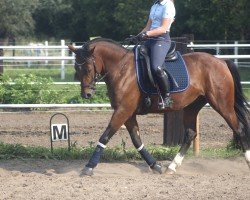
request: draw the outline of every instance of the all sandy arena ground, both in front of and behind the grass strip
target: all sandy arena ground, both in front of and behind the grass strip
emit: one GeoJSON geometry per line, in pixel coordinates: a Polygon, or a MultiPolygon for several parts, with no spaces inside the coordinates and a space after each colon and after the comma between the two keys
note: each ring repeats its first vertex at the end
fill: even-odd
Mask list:
{"type": "MultiPolygon", "coordinates": [[[[0,113],[0,141],[50,147],[55,112],[0,113]]],[[[64,111],[72,142],[89,145],[105,130],[111,112],[64,111]]],[[[63,119],[56,119],[62,122],[63,119]]],[[[162,144],[163,116],[139,116],[145,144],[162,144]]],[[[200,113],[201,147],[226,146],[232,132],[211,109],[200,113]]],[[[126,142],[123,129],[109,145],[126,142]]],[[[56,144],[65,145],[65,143],[56,144]]],[[[92,177],[80,177],[86,161],[0,160],[0,199],[250,199],[250,171],[243,157],[184,159],[175,175],[153,174],[142,161],[100,163],[92,177]]],[[[167,166],[169,161],[162,161],[167,166]]]]}

